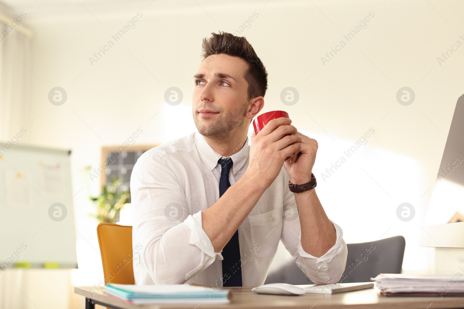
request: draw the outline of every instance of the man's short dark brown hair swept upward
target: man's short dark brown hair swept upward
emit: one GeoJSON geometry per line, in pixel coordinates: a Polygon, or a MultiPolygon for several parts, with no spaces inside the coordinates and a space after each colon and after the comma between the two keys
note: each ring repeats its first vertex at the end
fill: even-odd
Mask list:
{"type": "Polygon", "coordinates": [[[264,96],[267,90],[267,72],[255,50],[245,37],[237,37],[232,33],[212,32],[211,38],[203,39],[203,60],[211,55],[226,54],[239,57],[248,63],[244,78],[248,82],[248,100],[264,96]]]}

